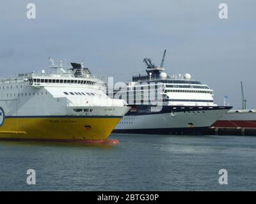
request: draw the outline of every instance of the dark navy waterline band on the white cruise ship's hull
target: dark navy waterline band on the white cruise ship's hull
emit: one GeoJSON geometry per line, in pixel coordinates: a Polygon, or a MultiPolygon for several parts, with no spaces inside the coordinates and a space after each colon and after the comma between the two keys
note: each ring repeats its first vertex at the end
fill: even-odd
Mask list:
{"type": "Polygon", "coordinates": [[[156,129],[114,129],[112,133],[154,134],[154,135],[203,135],[209,127],[200,128],[156,128],[156,129]]]}

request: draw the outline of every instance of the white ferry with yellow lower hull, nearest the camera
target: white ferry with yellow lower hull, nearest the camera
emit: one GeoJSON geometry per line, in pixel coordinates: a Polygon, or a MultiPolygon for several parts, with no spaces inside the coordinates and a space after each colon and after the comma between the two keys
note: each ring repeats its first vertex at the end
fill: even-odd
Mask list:
{"type": "Polygon", "coordinates": [[[0,140],[106,142],[130,109],[83,63],[0,78],[0,140]]]}

